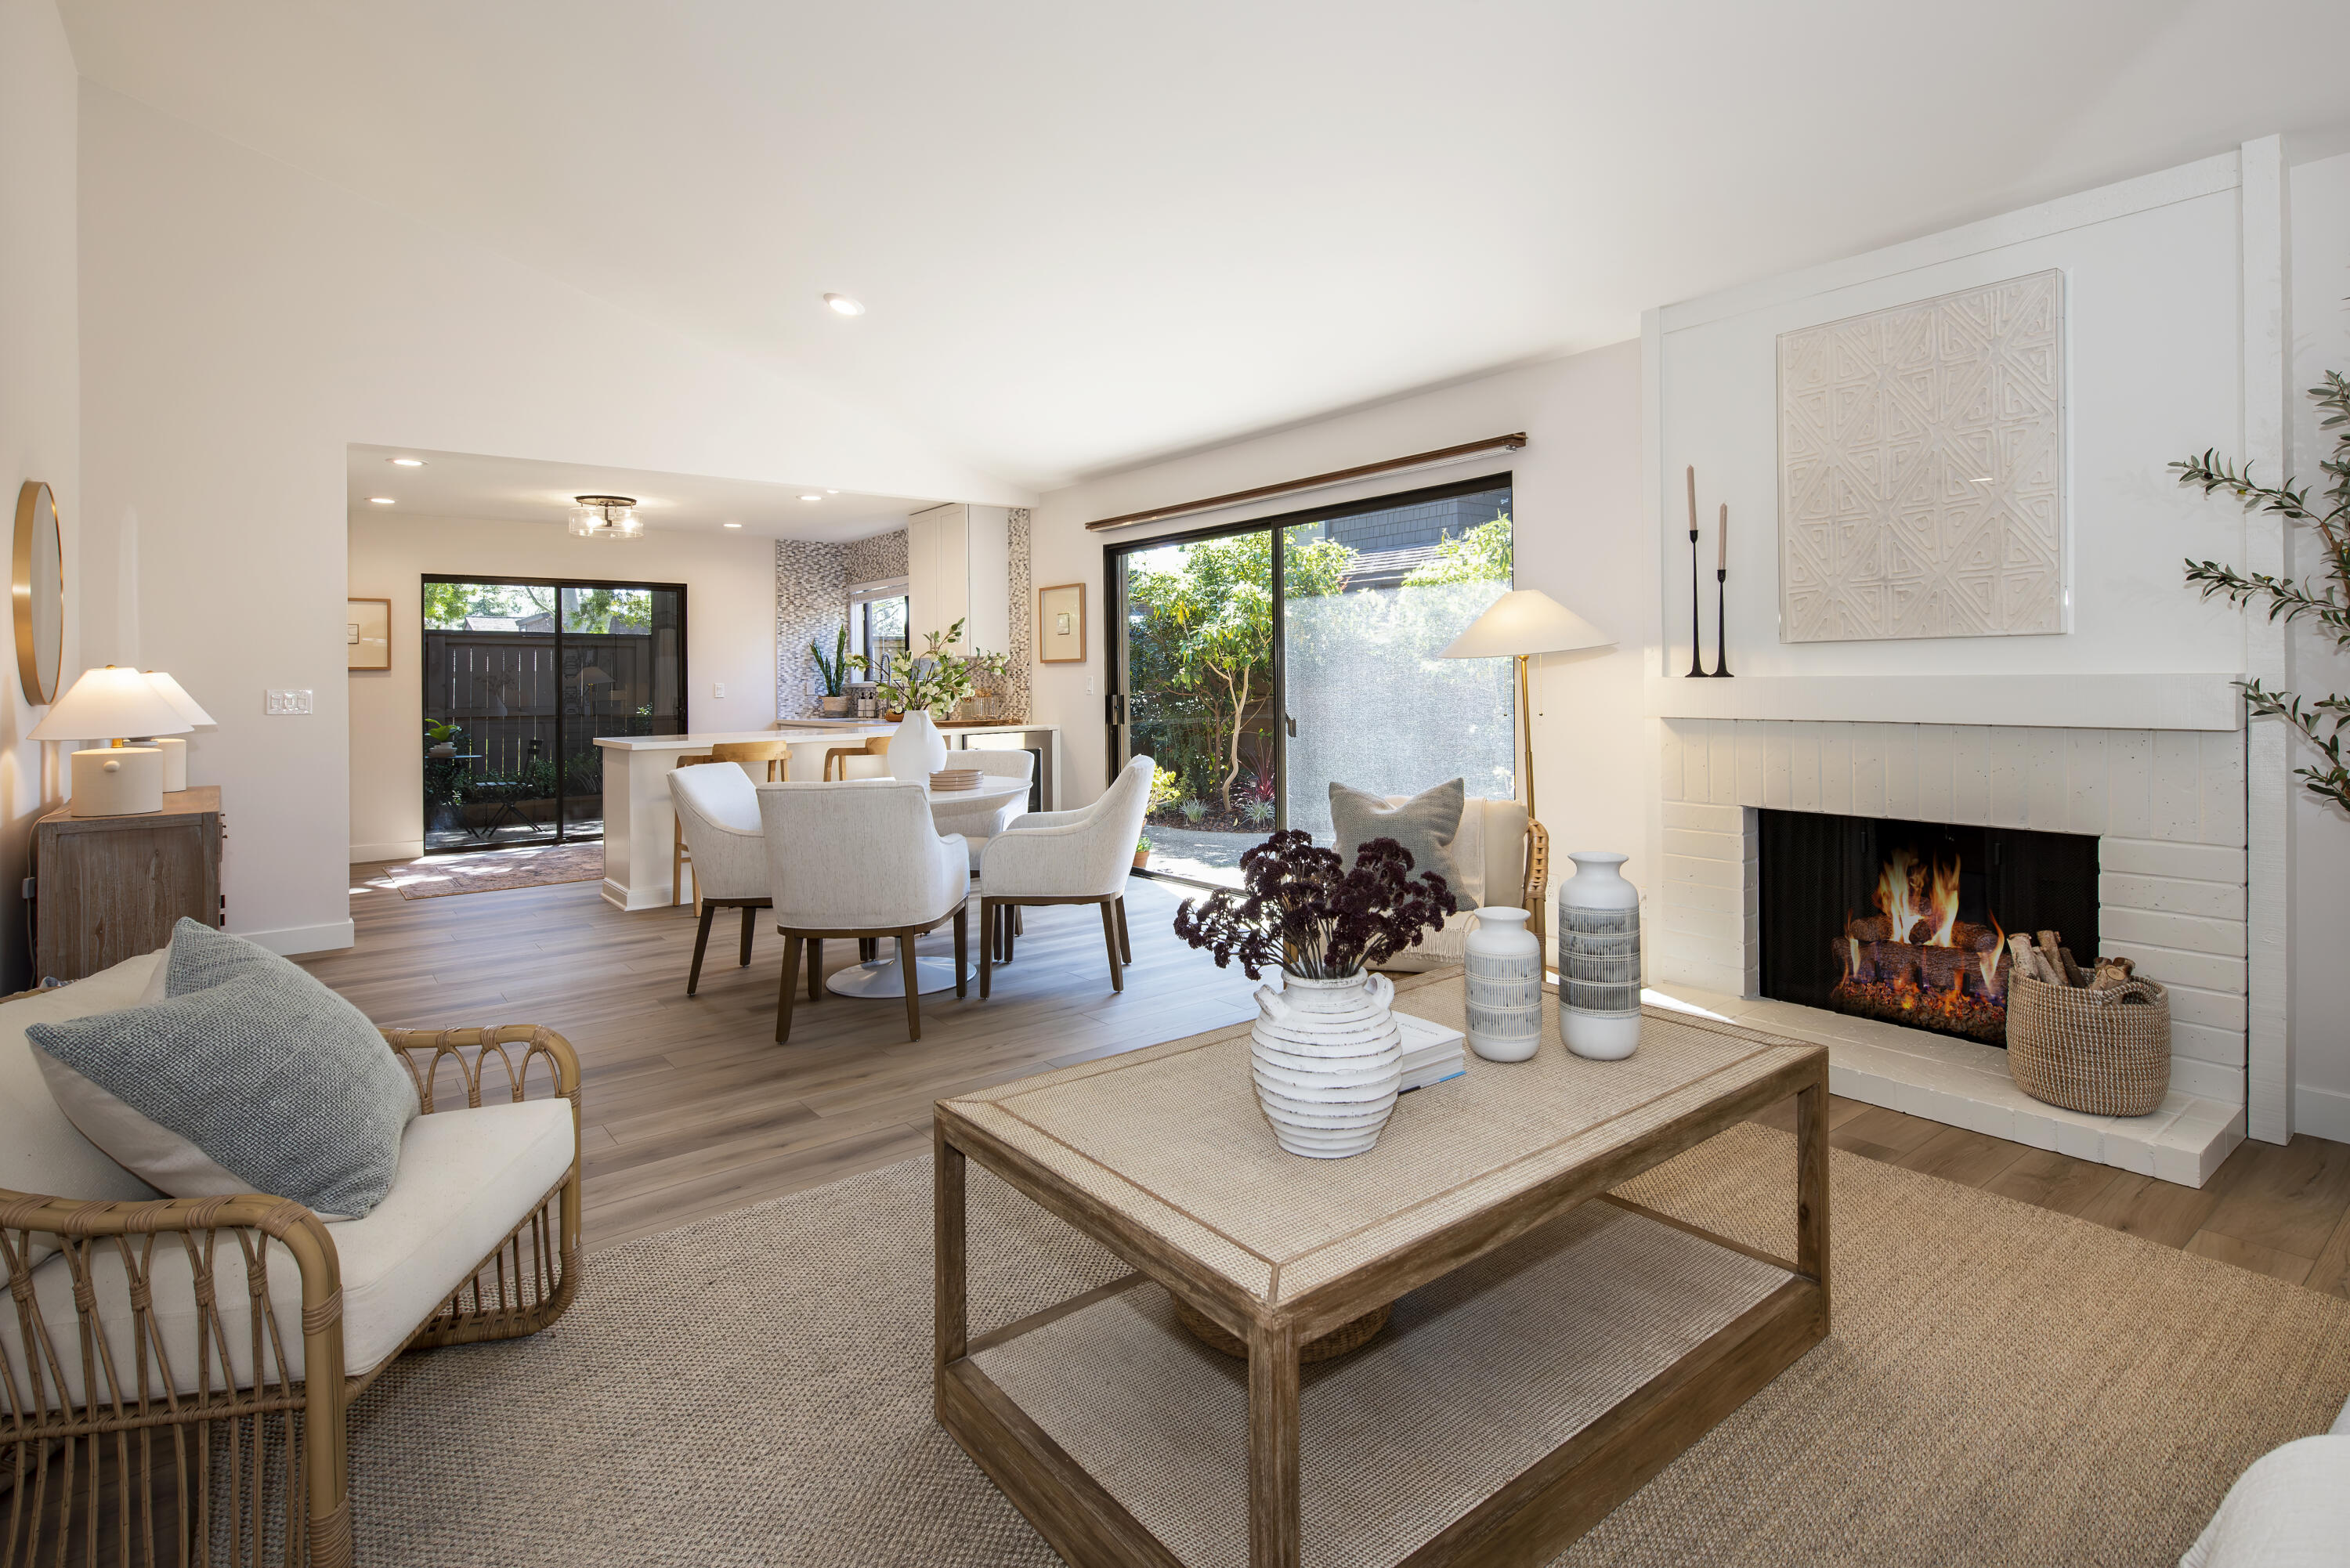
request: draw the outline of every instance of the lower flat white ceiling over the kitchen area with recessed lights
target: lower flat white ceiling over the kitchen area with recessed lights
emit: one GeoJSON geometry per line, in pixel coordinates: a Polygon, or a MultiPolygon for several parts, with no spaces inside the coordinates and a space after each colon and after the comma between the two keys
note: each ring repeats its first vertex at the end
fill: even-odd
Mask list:
{"type": "Polygon", "coordinates": [[[644,517],[646,529],[721,534],[728,522],[740,522],[743,534],[830,541],[902,529],[907,512],[938,505],[909,496],[834,496],[799,484],[585,468],[411,447],[350,447],[348,484],[352,515],[468,517],[564,527],[573,496],[634,496],[637,515],[644,517]],[[425,465],[400,468],[392,458],[423,458],[425,465]],[[376,505],[374,496],[390,496],[392,503],[376,505]],[[801,496],[822,498],[801,501],[801,496]]]}

